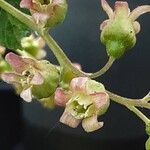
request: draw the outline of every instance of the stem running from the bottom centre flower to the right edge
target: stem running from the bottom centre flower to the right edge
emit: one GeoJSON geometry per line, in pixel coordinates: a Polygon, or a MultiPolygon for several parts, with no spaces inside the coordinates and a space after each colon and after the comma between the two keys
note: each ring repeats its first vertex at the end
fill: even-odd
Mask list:
{"type": "Polygon", "coordinates": [[[150,109],[150,103],[147,103],[143,101],[142,99],[125,98],[125,97],[121,97],[119,95],[113,94],[112,92],[109,92],[109,91],[106,91],[106,92],[108,93],[111,100],[121,105],[137,106],[137,107],[150,109]]]}

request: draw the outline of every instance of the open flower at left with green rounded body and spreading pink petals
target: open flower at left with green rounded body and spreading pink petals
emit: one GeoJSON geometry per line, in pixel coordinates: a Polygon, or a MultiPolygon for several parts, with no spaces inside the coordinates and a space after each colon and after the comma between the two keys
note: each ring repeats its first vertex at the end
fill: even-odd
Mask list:
{"type": "Polygon", "coordinates": [[[8,53],[5,59],[13,72],[4,73],[1,77],[13,84],[25,101],[47,98],[54,93],[59,82],[59,72],[48,61],[22,58],[14,53],[8,53]]]}

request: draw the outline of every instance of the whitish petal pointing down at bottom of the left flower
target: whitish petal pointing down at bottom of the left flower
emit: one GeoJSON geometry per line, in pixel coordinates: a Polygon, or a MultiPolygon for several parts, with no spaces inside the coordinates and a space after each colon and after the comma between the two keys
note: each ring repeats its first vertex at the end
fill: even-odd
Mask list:
{"type": "Polygon", "coordinates": [[[28,89],[23,90],[20,93],[20,97],[25,100],[26,102],[31,102],[32,101],[32,92],[31,92],[31,87],[28,89]]]}

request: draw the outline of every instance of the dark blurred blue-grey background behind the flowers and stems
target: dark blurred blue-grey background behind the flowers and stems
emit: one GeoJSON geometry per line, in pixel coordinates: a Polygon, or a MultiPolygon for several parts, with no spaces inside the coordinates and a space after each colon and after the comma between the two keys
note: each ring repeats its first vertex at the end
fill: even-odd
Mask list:
{"type": "MultiPolygon", "coordinates": [[[[113,6],[115,1],[108,2],[113,6]]],[[[149,0],[128,2],[131,10],[150,4],[149,0]]],[[[50,32],[72,62],[80,63],[84,71],[95,72],[108,59],[99,42],[99,25],[107,15],[99,0],[68,0],[68,5],[65,22],[50,32]]],[[[108,90],[130,98],[142,98],[150,89],[150,14],[138,21],[141,32],[136,46],[97,79],[108,90]]],[[[51,52],[48,59],[57,63],[51,52]]],[[[0,150],[145,149],[143,122],[118,104],[112,102],[108,112],[100,117],[105,122],[101,130],[87,134],[81,127],[71,129],[59,123],[62,109],[47,110],[35,101],[25,103],[3,82],[0,90],[0,150]]]]}

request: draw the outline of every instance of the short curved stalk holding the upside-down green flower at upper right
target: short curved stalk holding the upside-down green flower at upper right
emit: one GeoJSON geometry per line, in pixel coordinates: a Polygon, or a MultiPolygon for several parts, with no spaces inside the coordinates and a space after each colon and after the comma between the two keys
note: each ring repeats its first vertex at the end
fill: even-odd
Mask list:
{"type": "Polygon", "coordinates": [[[106,63],[106,65],[102,69],[100,69],[99,71],[92,73],[89,77],[90,78],[97,78],[97,77],[103,75],[113,65],[114,61],[115,61],[115,59],[113,57],[109,57],[109,60],[106,63]]]}

